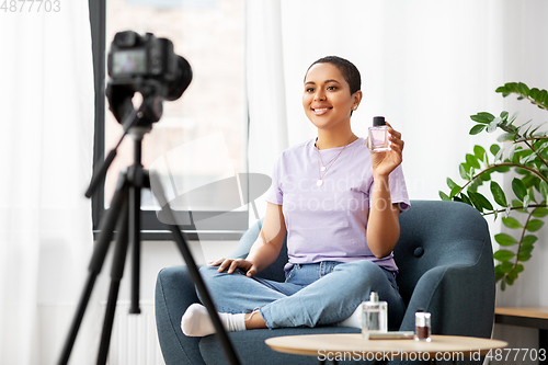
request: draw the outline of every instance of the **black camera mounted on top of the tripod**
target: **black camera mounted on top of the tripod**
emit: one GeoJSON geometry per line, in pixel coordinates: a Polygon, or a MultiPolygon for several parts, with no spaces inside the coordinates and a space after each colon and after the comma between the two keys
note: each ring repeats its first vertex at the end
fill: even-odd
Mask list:
{"type": "MultiPolygon", "coordinates": [[[[179,99],[192,81],[192,68],[173,52],[173,43],[152,33],[140,35],[133,31],[114,36],[107,59],[106,96],[118,122],[133,111],[135,92],[153,99],[151,122],[161,116],[161,101],[179,99]]],[[[156,121],[155,121],[156,119],[156,121]]]]}

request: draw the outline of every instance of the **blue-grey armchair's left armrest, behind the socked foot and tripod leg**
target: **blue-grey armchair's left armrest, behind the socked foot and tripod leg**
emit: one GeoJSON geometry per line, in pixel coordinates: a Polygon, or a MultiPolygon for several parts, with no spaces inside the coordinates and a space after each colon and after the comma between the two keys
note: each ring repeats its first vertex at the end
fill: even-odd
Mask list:
{"type": "Polygon", "coordinates": [[[181,330],[186,308],[199,303],[186,266],[160,271],[156,282],[156,324],[167,365],[205,365],[198,349],[202,338],[189,338],[181,330]]]}

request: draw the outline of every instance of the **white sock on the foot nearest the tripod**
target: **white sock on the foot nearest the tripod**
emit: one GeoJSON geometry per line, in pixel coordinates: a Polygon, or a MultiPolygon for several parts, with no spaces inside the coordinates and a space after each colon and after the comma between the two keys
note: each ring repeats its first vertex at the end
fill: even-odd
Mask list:
{"type": "MultiPolygon", "coordinates": [[[[246,330],[246,315],[244,313],[218,313],[220,322],[225,326],[228,332],[246,330]]],[[[201,304],[193,304],[183,315],[181,319],[181,329],[187,337],[204,337],[215,333],[212,318],[207,308],[201,304]]]]}

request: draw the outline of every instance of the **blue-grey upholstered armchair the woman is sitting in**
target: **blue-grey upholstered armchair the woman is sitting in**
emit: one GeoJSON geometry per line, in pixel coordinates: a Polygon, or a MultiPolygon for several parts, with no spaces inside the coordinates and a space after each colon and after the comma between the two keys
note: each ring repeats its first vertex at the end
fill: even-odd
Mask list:
{"type": "MultiPolygon", "coordinates": [[[[233,258],[246,256],[259,235],[260,224],[241,238],[233,258]]],[[[393,251],[400,270],[398,286],[407,305],[400,330],[414,330],[414,312],[423,308],[432,313],[433,334],[490,338],[495,283],[491,239],[483,217],[463,203],[412,201],[411,209],[400,215],[400,240],[393,251]]],[[[258,275],[284,281],[286,262],[284,247],[276,262],[258,275]]],[[[168,267],[159,273],[156,320],[167,365],[227,363],[215,335],[187,338],[181,331],[181,317],[197,301],[186,266],[168,267]]],[[[284,328],[232,332],[229,337],[242,364],[318,364],[311,356],[274,352],[264,340],[278,335],[351,332],[359,330],[284,328]]]]}

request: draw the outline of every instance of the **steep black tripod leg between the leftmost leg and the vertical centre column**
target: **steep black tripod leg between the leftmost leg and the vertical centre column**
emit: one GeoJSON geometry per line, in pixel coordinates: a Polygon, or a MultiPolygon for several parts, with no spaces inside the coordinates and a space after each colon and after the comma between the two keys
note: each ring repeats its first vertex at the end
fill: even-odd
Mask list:
{"type": "Polygon", "coordinates": [[[128,205],[124,204],[122,219],[118,221],[116,239],[116,249],[112,261],[111,271],[111,288],[109,290],[109,300],[106,303],[106,311],[104,316],[103,333],[101,335],[101,345],[99,347],[98,365],[106,364],[109,355],[109,346],[111,343],[112,328],[114,324],[114,315],[116,312],[116,301],[118,298],[119,283],[124,276],[124,265],[126,262],[127,246],[128,246],[128,205]]]}

